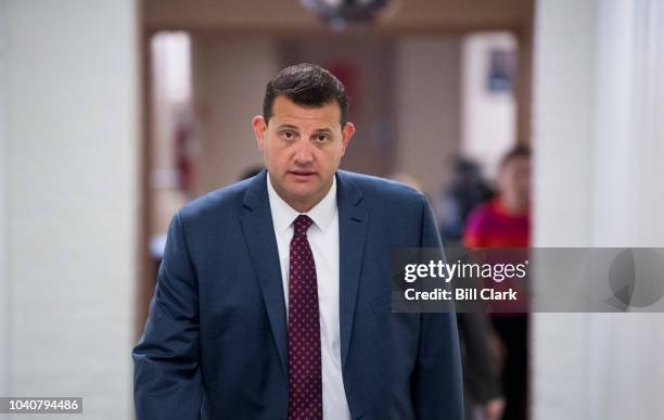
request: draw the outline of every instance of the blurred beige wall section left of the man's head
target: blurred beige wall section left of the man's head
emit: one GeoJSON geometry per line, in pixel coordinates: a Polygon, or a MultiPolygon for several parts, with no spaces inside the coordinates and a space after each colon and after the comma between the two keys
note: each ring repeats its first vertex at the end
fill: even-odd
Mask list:
{"type": "Polygon", "coordinates": [[[265,84],[278,71],[269,37],[192,37],[196,138],[196,195],[234,182],[263,163],[251,120],[261,114],[265,84]]]}

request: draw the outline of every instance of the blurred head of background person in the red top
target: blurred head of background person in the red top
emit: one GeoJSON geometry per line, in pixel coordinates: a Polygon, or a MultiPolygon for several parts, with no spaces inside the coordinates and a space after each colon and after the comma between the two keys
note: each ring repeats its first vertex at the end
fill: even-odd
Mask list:
{"type": "Polygon", "coordinates": [[[518,145],[509,151],[498,167],[498,190],[510,209],[527,211],[531,199],[531,150],[518,145]]]}

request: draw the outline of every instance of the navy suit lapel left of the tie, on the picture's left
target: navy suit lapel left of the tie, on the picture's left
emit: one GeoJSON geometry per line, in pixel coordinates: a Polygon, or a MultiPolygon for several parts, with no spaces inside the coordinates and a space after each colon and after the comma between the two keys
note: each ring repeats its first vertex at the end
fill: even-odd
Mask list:
{"type": "Polygon", "coordinates": [[[267,194],[266,174],[263,170],[251,181],[243,201],[250,212],[240,216],[240,221],[260,283],[281,367],[288,378],[288,329],[283,280],[267,194]]]}

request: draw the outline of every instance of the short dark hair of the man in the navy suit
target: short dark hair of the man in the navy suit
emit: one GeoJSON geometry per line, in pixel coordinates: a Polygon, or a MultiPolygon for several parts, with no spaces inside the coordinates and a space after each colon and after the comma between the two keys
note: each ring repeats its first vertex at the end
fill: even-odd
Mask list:
{"type": "Polygon", "coordinates": [[[272,116],[274,99],[283,94],[297,105],[319,107],[336,101],[341,109],[341,125],[348,116],[348,96],[344,85],[334,75],[316,64],[301,63],[279,72],[265,88],[263,117],[272,116]]]}

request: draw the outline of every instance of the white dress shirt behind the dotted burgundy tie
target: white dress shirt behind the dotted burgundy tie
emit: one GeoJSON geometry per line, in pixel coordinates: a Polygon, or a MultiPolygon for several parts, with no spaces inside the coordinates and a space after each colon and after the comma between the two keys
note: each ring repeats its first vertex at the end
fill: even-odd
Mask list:
{"type": "Polygon", "coordinates": [[[307,239],[314,254],[318,280],[318,307],[320,310],[320,355],[322,370],[323,419],[349,420],[350,410],[344,391],[341,367],[341,339],[339,331],[339,211],[336,207],[336,177],[332,188],[314,208],[299,213],[284,202],[267,176],[268,196],[281,278],[285,298],[286,319],[289,313],[289,267],[290,246],[293,238],[293,222],[301,214],[314,220],[307,231],[307,239]]]}

